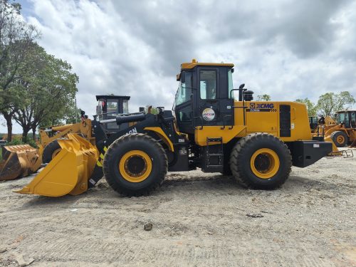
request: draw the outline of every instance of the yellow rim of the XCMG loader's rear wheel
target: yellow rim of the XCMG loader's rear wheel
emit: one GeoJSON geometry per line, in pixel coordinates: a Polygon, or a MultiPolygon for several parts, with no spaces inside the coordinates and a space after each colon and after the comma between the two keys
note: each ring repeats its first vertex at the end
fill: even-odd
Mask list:
{"type": "Polygon", "coordinates": [[[279,157],[269,148],[261,148],[253,153],[250,166],[253,174],[261,179],[270,179],[279,169],[279,157]]]}

